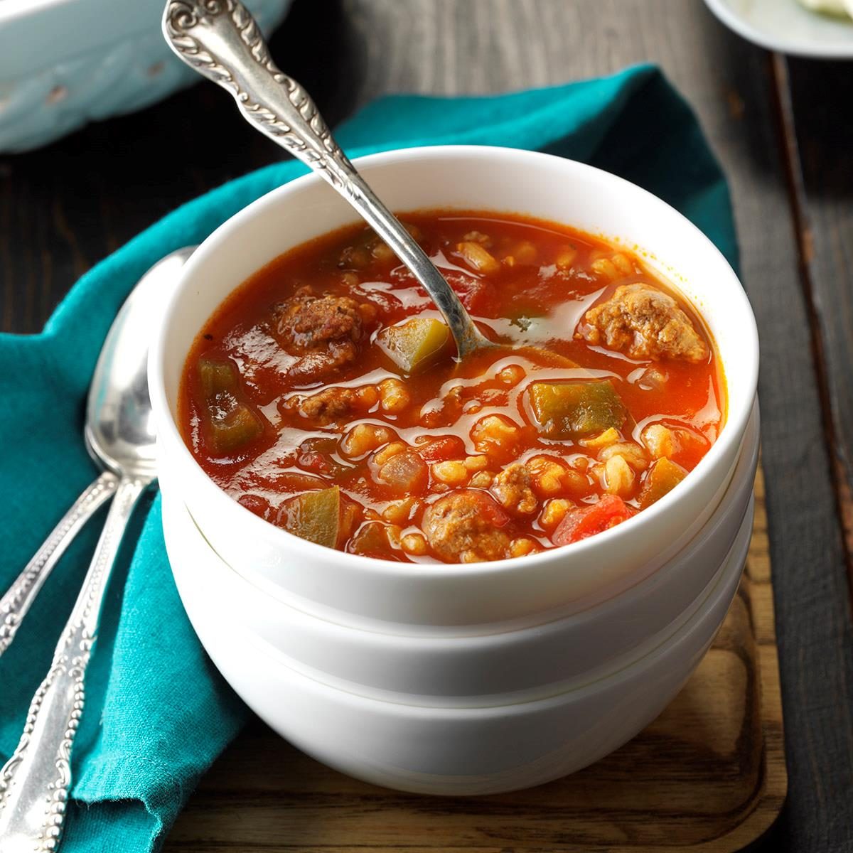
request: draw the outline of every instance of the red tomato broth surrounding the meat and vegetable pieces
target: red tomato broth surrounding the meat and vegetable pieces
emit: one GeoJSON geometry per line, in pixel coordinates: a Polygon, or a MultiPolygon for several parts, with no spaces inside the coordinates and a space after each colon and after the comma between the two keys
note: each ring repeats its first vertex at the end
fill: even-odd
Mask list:
{"type": "MultiPolygon", "coordinates": [[[[685,471],[693,470],[725,420],[725,380],[710,332],[698,313],[671,286],[650,274],[631,252],[559,224],[491,212],[415,212],[403,215],[403,219],[419,229],[421,245],[490,338],[539,346],[581,367],[547,367],[536,363],[538,360],[529,352],[507,351],[479,354],[458,364],[451,357],[450,345],[444,357],[421,373],[404,374],[377,345],[380,330],[409,317],[440,315],[397,258],[380,253],[380,258],[371,256],[362,268],[353,263],[353,258],[356,262],[364,258],[357,252],[348,254],[347,248],[363,247],[373,234],[361,224],[348,226],[295,247],[258,270],[220,305],[194,341],[183,369],[178,422],[189,449],[217,485],[274,524],[287,514],[284,504],[293,496],[337,485],[347,513],[355,519],[350,534],[338,537],[337,547],[384,559],[443,559],[430,545],[419,554],[417,549],[407,551],[400,543],[407,534],[421,535],[430,503],[459,490],[481,493],[479,514],[492,519],[513,543],[525,542],[519,546],[522,553],[523,548],[535,551],[557,547],[551,537],[559,522],[544,525],[542,521],[546,502],[554,498],[568,502],[568,511],[595,503],[606,494],[604,475],[595,450],[574,440],[540,434],[531,412],[528,387],[534,381],[589,379],[590,374],[611,380],[635,421],[633,428],[630,423],[624,425],[620,440],[642,446],[641,430],[647,424],[692,431],[698,440],[682,446],[672,456],[685,471]],[[457,252],[462,238],[473,231],[490,236],[488,252],[499,262],[498,269],[477,273],[457,252]],[[575,258],[570,268],[558,270],[554,259],[567,246],[575,250],[575,258]],[[507,258],[515,258],[514,252],[519,257],[511,265],[507,258]],[[628,258],[638,271],[610,281],[593,269],[596,261],[617,254],[628,258]],[[707,359],[688,363],[671,358],[630,358],[577,338],[575,331],[586,311],[610,299],[625,281],[645,282],[676,297],[707,344],[707,359]],[[332,374],[317,378],[310,373],[287,374],[295,359],[282,350],[269,328],[271,306],[292,297],[305,285],[317,296],[354,296],[377,309],[357,358],[335,368],[332,374]],[[204,424],[208,403],[201,392],[197,368],[200,358],[230,359],[239,369],[247,405],[263,415],[258,437],[230,455],[216,455],[207,440],[204,424]],[[525,371],[519,381],[514,382],[512,376],[496,376],[502,368],[513,366],[525,371]],[[647,368],[657,368],[666,375],[661,388],[651,387],[643,377],[647,368]],[[294,399],[328,386],[374,387],[389,379],[402,380],[409,395],[409,404],[399,412],[384,411],[376,403],[341,422],[316,424],[287,409],[287,401],[293,403],[294,399]],[[463,386],[461,404],[450,410],[448,392],[458,385],[463,386]],[[514,448],[493,449],[484,454],[474,446],[471,430],[487,415],[500,415],[519,427],[514,448]],[[411,475],[412,495],[380,481],[375,457],[382,447],[359,456],[342,453],[341,437],[358,424],[389,428],[394,433],[390,444],[409,445],[407,452],[413,450],[422,461],[422,468],[417,460],[404,460],[406,464],[397,465],[403,465],[404,473],[411,475]],[[494,487],[491,492],[468,482],[448,487],[434,476],[436,463],[461,457],[487,456],[486,470],[499,474],[513,461],[530,465],[534,457],[542,455],[562,460],[578,477],[586,477],[588,485],[578,488],[570,477],[569,485],[554,496],[544,496],[534,489],[539,498],[535,514],[507,512],[494,496],[494,487]],[[572,484],[574,488],[570,487],[572,484]],[[416,501],[408,516],[397,519],[398,523],[382,518],[389,503],[410,496],[416,501]],[[374,527],[365,530],[371,524],[374,527]],[[382,547],[387,530],[380,531],[376,524],[394,528],[387,547],[382,547]],[[354,545],[359,533],[363,534],[363,547],[354,545]]],[[[628,511],[617,513],[619,519],[639,508],[646,476],[647,470],[635,471],[635,487],[623,496],[628,511]]]]}

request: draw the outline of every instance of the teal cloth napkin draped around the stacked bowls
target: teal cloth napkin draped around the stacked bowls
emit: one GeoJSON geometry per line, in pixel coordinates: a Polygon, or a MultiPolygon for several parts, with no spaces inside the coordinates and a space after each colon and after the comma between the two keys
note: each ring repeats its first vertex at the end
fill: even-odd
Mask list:
{"type": "MultiPolygon", "coordinates": [[[[584,160],[658,194],[736,262],[722,172],[693,113],[653,67],[494,97],[386,97],[338,136],[351,156],[455,142],[584,160]]],[[[104,335],[131,287],[167,252],[199,243],[241,207],[305,171],[288,160],[189,202],[86,273],[41,334],[0,335],[0,588],[96,475],[81,440],[84,400],[104,335]]],[[[78,537],[0,658],[3,761],[47,671],[97,527],[78,537]]],[[[64,853],[157,849],[200,775],[249,716],[184,615],[159,500],[142,506],[124,550],[87,679],[64,853]]]]}

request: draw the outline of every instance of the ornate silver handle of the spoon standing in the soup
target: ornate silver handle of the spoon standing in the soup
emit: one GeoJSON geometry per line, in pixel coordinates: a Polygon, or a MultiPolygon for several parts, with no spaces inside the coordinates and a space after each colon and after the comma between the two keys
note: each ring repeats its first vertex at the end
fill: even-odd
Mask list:
{"type": "Polygon", "coordinates": [[[184,62],[234,96],[247,121],[356,208],[426,288],[450,326],[460,357],[490,345],[426,253],[341,151],[310,95],[276,67],[239,0],[169,0],[163,33],[184,62]]]}

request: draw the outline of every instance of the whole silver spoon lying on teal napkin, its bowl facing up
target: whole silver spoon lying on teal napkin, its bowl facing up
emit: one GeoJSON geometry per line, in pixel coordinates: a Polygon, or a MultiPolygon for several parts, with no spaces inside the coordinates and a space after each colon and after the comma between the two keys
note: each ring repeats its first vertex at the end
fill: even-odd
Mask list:
{"type": "Polygon", "coordinates": [[[71,749],[83,714],[86,666],[104,594],[127,521],[156,477],[148,339],[162,294],[191,252],[173,252],[142,276],[107,334],[92,377],[86,445],[118,485],[53,663],[32,698],[18,747],[0,769],[3,853],[55,850],[59,844],[71,786],[71,749]]]}

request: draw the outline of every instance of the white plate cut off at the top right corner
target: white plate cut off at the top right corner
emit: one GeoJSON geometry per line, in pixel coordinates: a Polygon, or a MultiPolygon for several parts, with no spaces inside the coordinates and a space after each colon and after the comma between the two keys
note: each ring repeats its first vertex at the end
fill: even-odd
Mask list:
{"type": "Polygon", "coordinates": [[[853,20],[805,9],[798,0],[705,0],[743,38],[769,50],[853,59],[853,20]]]}

